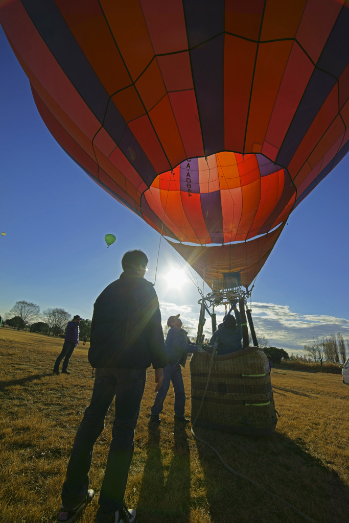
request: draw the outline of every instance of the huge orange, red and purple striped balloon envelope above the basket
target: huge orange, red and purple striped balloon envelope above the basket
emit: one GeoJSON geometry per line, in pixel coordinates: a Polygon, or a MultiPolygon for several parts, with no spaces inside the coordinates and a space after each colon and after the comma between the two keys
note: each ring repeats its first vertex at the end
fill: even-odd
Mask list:
{"type": "Polygon", "coordinates": [[[349,149],[342,0],[13,0],[43,121],[211,286],[249,286],[349,149]]]}

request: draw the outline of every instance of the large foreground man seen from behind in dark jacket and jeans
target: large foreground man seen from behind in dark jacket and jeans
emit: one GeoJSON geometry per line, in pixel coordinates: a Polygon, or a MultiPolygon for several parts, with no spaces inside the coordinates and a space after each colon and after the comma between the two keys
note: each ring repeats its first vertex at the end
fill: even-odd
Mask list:
{"type": "Polygon", "coordinates": [[[75,436],[58,523],[75,518],[94,498],[88,471],[104,419],[115,397],[105,474],[98,499],[96,523],[135,523],[136,510],[125,506],[127,476],[133,456],[134,429],[144,392],[147,368],[155,369],[155,392],[166,367],[159,301],[152,283],[144,279],[148,258],[129,251],[121,260],[120,278],[99,294],[92,317],[88,361],[96,369],[91,404],[75,436]]]}

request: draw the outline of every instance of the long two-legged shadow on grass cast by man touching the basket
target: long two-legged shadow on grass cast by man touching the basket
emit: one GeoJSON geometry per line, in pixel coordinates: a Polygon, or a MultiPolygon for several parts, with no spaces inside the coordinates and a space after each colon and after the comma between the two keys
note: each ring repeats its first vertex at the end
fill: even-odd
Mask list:
{"type": "Polygon", "coordinates": [[[185,426],[174,425],[173,452],[172,449],[161,452],[158,425],[151,424],[148,430],[148,455],[137,507],[139,516],[159,523],[186,523],[190,510],[190,451],[185,426]]]}

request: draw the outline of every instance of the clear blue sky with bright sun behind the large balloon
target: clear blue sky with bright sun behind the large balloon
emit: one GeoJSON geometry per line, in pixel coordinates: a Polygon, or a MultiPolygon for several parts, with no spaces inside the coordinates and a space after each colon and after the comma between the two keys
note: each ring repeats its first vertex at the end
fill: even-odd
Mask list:
{"type": "MultiPolygon", "coordinates": [[[[128,249],[147,253],[154,281],[159,236],[52,138],[2,31],[0,70],[0,313],[27,300],[91,318],[128,249]],[[117,237],[108,249],[107,233],[117,237]]],[[[256,324],[273,345],[295,351],[314,335],[349,336],[348,170],[345,157],[291,214],[257,277],[256,324]]],[[[199,295],[188,278],[179,281],[178,269],[162,245],[155,289],[163,316],[178,309],[194,326],[199,295]]]]}

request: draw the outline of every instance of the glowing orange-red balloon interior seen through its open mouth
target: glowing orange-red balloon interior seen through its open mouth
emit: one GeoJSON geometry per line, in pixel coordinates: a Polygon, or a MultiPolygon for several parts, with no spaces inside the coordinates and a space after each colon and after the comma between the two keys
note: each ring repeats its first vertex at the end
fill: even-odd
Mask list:
{"type": "Polygon", "coordinates": [[[261,154],[246,156],[192,158],[157,176],[142,196],[152,213],[143,214],[149,223],[160,217],[181,242],[223,244],[267,233],[285,219],[295,188],[286,169],[261,154]]]}

